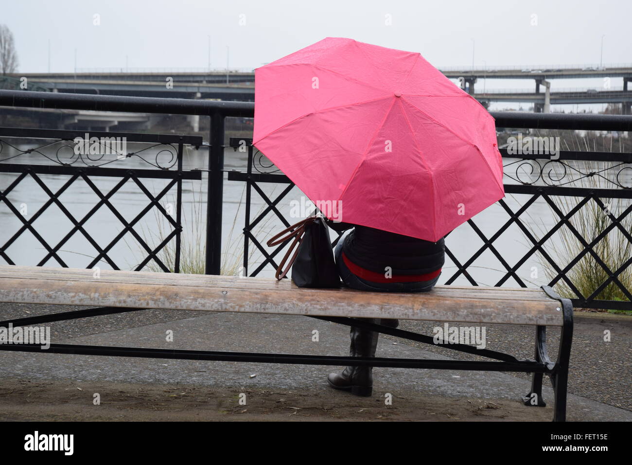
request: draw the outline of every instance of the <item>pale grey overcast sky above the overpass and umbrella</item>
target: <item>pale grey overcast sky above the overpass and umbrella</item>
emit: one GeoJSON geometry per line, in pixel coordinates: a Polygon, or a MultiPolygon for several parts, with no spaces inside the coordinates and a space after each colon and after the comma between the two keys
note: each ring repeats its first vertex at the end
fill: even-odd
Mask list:
{"type": "MultiPolygon", "coordinates": [[[[327,36],[420,52],[442,66],[632,63],[631,0],[0,0],[20,72],[256,68],[327,36]],[[99,15],[100,25],[94,25],[99,15]],[[386,25],[390,15],[391,25],[386,25]],[[240,23],[243,23],[240,25],[240,23]]],[[[612,86],[620,86],[613,80],[612,86]]],[[[532,81],[488,82],[488,88],[532,81]]],[[[600,85],[556,80],[553,87],[600,85]]]]}

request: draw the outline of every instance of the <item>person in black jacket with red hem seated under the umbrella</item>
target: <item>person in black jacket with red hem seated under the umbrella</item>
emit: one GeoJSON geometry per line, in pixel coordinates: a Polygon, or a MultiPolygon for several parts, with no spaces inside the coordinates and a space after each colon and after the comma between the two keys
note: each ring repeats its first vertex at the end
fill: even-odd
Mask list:
{"type": "MultiPolygon", "coordinates": [[[[326,223],[337,232],[346,231],[334,251],[344,285],[374,292],[427,292],[439,280],[445,261],[443,238],[429,242],[367,226],[326,223]]],[[[397,319],[363,319],[392,328],[399,325],[397,319]]],[[[351,357],[375,357],[379,333],[351,326],[350,335],[351,357]]],[[[327,381],[334,389],[369,396],[372,371],[371,366],[348,366],[341,373],[330,373],[327,381]]]]}

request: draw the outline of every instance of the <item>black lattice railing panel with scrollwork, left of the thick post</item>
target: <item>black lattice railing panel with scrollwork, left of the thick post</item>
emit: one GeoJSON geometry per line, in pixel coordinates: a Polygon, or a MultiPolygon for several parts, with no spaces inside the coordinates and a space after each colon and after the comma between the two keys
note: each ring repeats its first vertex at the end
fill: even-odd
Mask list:
{"type": "MultiPolygon", "coordinates": [[[[18,228],[8,240],[0,243],[0,257],[8,264],[16,264],[11,258],[9,248],[20,240],[24,233],[30,232],[44,249],[46,249],[46,253],[44,253],[39,263],[37,263],[37,266],[50,265],[49,260],[52,259],[52,261],[58,263],[60,266],[66,267],[67,265],[60,256],[59,251],[64,245],[68,244],[75,233],[80,233],[88,244],[94,247],[96,252],[95,256],[88,261],[85,268],[94,268],[100,261],[105,261],[112,269],[119,270],[119,265],[114,260],[114,257],[111,256],[110,252],[112,248],[129,233],[137,244],[140,245],[144,255],[140,259],[140,263],[136,266],[136,270],[142,270],[147,263],[154,261],[162,271],[172,271],[171,268],[162,261],[159,254],[162,249],[174,239],[173,271],[178,273],[182,233],[182,182],[183,180],[200,180],[202,178],[200,171],[183,170],[183,147],[185,144],[201,145],[202,137],[95,131],[90,131],[89,136],[90,139],[94,137],[95,141],[99,141],[98,143],[94,142],[97,144],[97,150],[92,153],[89,150],[75,151],[76,144],[73,142],[75,139],[84,140],[85,146],[89,147],[90,139],[85,140],[85,132],[82,131],[0,128],[0,173],[11,173],[15,175],[13,180],[8,182],[7,185],[0,186],[0,202],[22,223],[20,228],[18,228]],[[36,147],[30,147],[25,150],[20,149],[18,146],[13,146],[13,144],[9,142],[9,140],[22,139],[28,140],[28,142],[31,143],[36,140],[41,141],[44,139],[44,142],[39,142],[39,145],[36,147]],[[146,145],[137,151],[122,152],[119,150],[119,147],[122,145],[121,142],[123,142],[123,140],[125,140],[125,144],[127,142],[144,142],[146,145]],[[50,156],[47,153],[49,152],[47,149],[50,147],[54,148],[54,156],[50,156]],[[8,153],[9,148],[13,149],[11,154],[8,153]],[[154,152],[157,153],[149,156],[149,152],[147,152],[149,149],[154,149],[154,152]],[[49,163],[12,163],[16,161],[20,162],[21,157],[27,154],[37,154],[40,158],[47,159],[49,163]],[[149,168],[115,167],[118,165],[125,166],[125,162],[129,158],[140,159],[144,164],[147,164],[149,168]],[[42,179],[41,175],[58,175],[64,178],[64,182],[59,189],[52,190],[46,181],[42,179]],[[102,192],[94,182],[94,178],[99,177],[114,178],[117,182],[112,189],[109,189],[107,192],[102,192]],[[28,178],[31,178],[37,183],[40,189],[45,192],[48,199],[35,213],[28,214],[27,216],[22,214],[20,209],[9,200],[9,195],[21,182],[24,182],[28,178]],[[148,179],[163,179],[167,180],[167,183],[157,195],[154,195],[143,183],[144,180],[148,179]],[[77,217],[76,213],[69,211],[64,205],[64,202],[60,199],[78,180],[83,180],[99,199],[99,201],[81,217],[77,217]],[[135,183],[135,188],[138,192],[145,195],[149,202],[134,218],[126,220],[119,209],[112,204],[112,196],[119,192],[130,180],[135,183]],[[161,203],[161,200],[173,189],[176,190],[174,214],[167,212],[161,203]],[[63,215],[70,220],[72,225],[70,230],[68,230],[56,244],[50,243],[49,240],[44,237],[44,235],[46,235],[44,231],[49,229],[50,225],[45,226],[42,230],[38,230],[34,224],[52,206],[58,207],[63,215]],[[93,218],[101,208],[106,208],[111,211],[114,218],[123,226],[121,231],[116,234],[112,231],[114,237],[103,247],[98,244],[93,235],[88,233],[85,228],[86,223],[90,218],[93,218]],[[135,227],[143,216],[153,208],[159,211],[161,218],[164,218],[170,229],[165,232],[165,237],[162,239],[162,242],[155,247],[147,244],[147,238],[142,237],[142,234],[139,233],[135,227]]],[[[39,224],[40,223],[38,223],[38,225],[39,224]]]]}

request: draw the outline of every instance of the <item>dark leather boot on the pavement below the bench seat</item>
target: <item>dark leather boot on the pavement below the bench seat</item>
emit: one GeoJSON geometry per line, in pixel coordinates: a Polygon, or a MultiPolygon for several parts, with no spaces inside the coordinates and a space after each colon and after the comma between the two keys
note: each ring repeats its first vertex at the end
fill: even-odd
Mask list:
{"type": "MultiPolygon", "coordinates": [[[[379,319],[367,318],[367,321],[380,323],[379,319]]],[[[349,334],[351,335],[349,356],[375,357],[379,333],[351,326],[349,334]]],[[[351,394],[369,396],[373,392],[372,372],[372,366],[348,366],[341,373],[329,373],[327,381],[334,389],[350,390],[351,394]]]]}

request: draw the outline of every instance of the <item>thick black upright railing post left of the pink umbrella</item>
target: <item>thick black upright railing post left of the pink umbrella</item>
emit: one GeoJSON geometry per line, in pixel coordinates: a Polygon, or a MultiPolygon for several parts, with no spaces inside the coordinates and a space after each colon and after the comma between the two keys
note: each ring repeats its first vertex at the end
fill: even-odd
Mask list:
{"type": "Polygon", "coordinates": [[[206,203],[207,275],[219,275],[222,267],[222,203],[224,201],[224,115],[210,115],[209,185],[206,203]]]}

